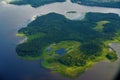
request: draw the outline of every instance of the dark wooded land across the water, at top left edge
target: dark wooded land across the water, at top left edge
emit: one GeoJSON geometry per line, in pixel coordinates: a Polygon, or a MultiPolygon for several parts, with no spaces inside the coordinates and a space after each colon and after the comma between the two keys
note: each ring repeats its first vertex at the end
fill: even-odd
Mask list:
{"type": "Polygon", "coordinates": [[[45,4],[54,2],[65,2],[65,0],[12,0],[9,3],[15,5],[31,5],[32,7],[39,7],[45,4]]]}

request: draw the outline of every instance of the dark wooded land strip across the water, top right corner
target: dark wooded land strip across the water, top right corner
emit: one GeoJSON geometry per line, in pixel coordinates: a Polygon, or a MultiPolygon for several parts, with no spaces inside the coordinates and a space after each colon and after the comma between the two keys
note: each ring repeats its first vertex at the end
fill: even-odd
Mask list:
{"type": "Polygon", "coordinates": [[[120,8],[120,0],[71,0],[71,2],[87,6],[120,8]]]}

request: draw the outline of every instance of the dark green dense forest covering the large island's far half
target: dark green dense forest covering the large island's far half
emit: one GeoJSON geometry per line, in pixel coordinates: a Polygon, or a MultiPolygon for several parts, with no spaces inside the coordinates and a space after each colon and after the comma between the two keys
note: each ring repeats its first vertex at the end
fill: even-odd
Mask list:
{"type": "Polygon", "coordinates": [[[93,46],[100,47],[103,45],[102,42],[117,36],[116,32],[120,31],[119,25],[120,17],[117,14],[87,13],[84,20],[72,21],[62,15],[50,13],[37,17],[27,27],[18,31],[20,34],[25,34],[28,37],[28,41],[18,45],[16,51],[20,56],[34,57],[42,54],[41,50],[45,46],[65,40],[79,41],[83,44],[94,42],[97,45],[93,46]],[[102,32],[94,30],[96,22],[103,20],[112,23],[104,24],[102,32]],[[41,36],[41,34],[44,35],[41,36]],[[35,35],[37,36],[35,37],[35,35]],[[32,40],[30,40],[31,38],[29,39],[31,36],[33,36],[32,40]]]}

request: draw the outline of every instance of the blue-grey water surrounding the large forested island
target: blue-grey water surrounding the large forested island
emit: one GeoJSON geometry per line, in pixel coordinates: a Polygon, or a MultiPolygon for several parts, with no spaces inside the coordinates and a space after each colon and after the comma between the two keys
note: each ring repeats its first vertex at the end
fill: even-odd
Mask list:
{"type": "MultiPolygon", "coordinates": [[[[3,1],[3,0],[2,0],[3,1]]],[[[17,30],[25,27],[36,15],[56,12],[69,19],[82,19],[86,12],[117,13],[120,9],[89,7],[73,4],[69,0],[64,3],[53,3],[39,8],[15,6],[0,3],[0,80],[72,80],[59,74],[51,74],[38,61],[27,61],[19,58],[15,47],[23,38],[16,37],[17,30]],[[68,11],[76,11],[69,14],[68,11]]],[[[74,80],[112,80],[118,70],[118,62],[102,61],[74,80]]]]}

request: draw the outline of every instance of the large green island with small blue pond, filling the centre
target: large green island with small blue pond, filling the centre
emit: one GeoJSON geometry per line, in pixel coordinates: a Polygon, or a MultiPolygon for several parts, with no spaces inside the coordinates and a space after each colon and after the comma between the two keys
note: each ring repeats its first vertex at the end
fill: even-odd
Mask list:
{"type": "Polygon", "coordinates": [[[109,43],[120,42],[120,17],[112,13],[86,13],[82,20],[69,20],[57,13],[37,17],[17,36],[27,37],[18,44],[18,56],[42,59],[53,73],[75,78],[95,63],[117,60],[109,43]]]}

